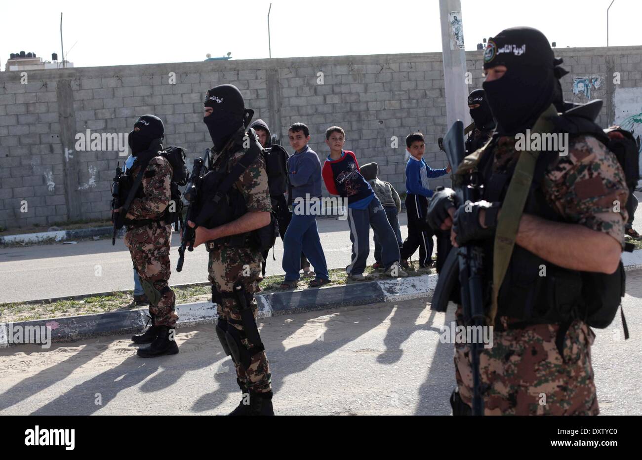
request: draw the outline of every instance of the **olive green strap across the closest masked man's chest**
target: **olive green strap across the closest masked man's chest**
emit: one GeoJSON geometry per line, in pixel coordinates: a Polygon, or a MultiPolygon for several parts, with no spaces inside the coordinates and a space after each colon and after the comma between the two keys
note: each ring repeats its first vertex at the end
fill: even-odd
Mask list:
{"type": "MultiPolygon", "coordinates": [[[[554,105],[550,105],[535,122],[530,130],[531,134],[550,133],[553,131],[552,117],[557,116],[557,110],[554,105]]],[[[535,163],[537,163],[539,151],[523,150],[517,160],[517,165],[513,172],[508,191],[501,204],[501,212],[497,220],[497,229],[495,232],[495,244],[493,248],[492,260],[492,305],[490,307],[487,321],[489,325],[494,325],[495,316],[498,308],[499,287],[506,276],[510,256],[513,252],[519,221],[524,212],[526,198],[530,184],[533,182],[533,173],[535,163]]]]}

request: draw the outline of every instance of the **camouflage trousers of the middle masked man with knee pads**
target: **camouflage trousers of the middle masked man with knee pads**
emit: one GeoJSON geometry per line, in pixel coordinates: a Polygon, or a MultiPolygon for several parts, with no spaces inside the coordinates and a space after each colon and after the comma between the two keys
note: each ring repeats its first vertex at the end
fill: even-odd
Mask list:
{"type": "MultiPolygon", "coordinates": [[[[257,278],[261,276],[261,262],[263,262],[263,256],[258,251],[229,247],[210,251],[209,264],[207,265],[208,278],[212,283],[213,292],[216,289],[218,293],[223,294],[221,302],[217,302],[218,316],[229,321],[228,327],[234,327],[240,332],[243,337],[241,343],[248,350],[252,348],[253,344],[245,338],[245,327],[241,323],[241,307],[232,295],[233,287],[237,282],[241,282],[248,297],[250,294],[252,295],[250,307],[252,307],[254,318],[256,318],[258,307],[254,294],[259,292],[257,278]]],[[[234,366],[239,385],[243,384],[245,388],[257,393],[264,393],[272,389],[270,363],[265,351],[252,356],[248,368],[245,368],[240,362],[234,366]]]]}

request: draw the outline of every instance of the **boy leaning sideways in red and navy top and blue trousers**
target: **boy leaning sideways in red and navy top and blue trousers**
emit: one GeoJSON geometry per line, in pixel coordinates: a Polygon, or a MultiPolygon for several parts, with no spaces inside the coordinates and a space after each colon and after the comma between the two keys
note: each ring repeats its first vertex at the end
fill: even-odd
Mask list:
{"type": "Polygon", "coordinates": [[[330,155],[323,166],[325,187],[331,194],[347,198],[348,201],[352,262],[345,271],[352,280],[366,279],[363,271],[370,252],[370,226],[372,226],[376,238],[381,241],[381,259],[386,275],[394,278],[408,276],[399,269],[399,245],[383,206],[370,184],[361,176],[354,153],[343,150],[343,144],[345,144],[343,129],[339,126],[327,128],[325,143],[330,148],[330,155]]]}

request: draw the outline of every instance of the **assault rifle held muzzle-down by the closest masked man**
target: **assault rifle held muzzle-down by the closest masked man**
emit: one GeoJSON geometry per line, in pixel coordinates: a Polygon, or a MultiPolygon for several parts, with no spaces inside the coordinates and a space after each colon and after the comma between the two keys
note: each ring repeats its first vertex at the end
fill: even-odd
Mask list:
{"type": "MultiPolygon", "coordinates": [[[[464,123],[456,121],[446,134],[443,148],[448,161],[453,167],[462,163],[465,157],[464,123]]],[[[453,188],[458,203],[474,203],[480,199],[480,187],[462,180],[453,180],[453,188]]],[[[469,243],[459,248],[452,248],[444,266],[439,273],[437,287],[433,296],[433,309],[446,311],[449,296],[456,285],[457,274],[461,286],[461,302],[464,308],[466,326],[476,330],[483,327],[483,250],[480,246],[469,243]],[[480,328],[478,328],[480,327],[480,328]]],[[[480,377],[481,344],[470,343],[473,362],[473,415],[483,415],[483,399],[480,377]]]]}

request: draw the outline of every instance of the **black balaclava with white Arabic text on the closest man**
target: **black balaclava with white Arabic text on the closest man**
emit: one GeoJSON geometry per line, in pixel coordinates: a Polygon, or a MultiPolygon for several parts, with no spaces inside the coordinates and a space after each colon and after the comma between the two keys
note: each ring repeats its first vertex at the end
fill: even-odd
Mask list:
{"type": "Polygon", "coordinates": [[[491,38],[483,68],[505,65],[498,80],[484,81],[492,115],[500,135],[515,135],[532,128],[539,115],[560,97],[557,79],[568,73],[555,59],[548,39],[530,27],[505,29],[491,38]]]}

